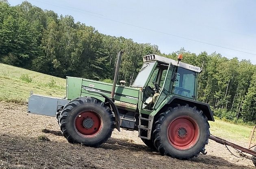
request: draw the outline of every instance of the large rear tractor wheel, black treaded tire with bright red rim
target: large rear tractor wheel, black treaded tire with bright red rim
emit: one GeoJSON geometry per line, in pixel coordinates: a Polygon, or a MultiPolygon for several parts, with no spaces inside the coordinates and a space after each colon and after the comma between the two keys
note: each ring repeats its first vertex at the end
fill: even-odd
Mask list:
{"type": "Polygon", "coordinates": [[[204,153],[209,128],[207,117],[196,106],[176,104],[161,113],[154,123],[154,145],[163,155],[190,160],[204,153]]]}

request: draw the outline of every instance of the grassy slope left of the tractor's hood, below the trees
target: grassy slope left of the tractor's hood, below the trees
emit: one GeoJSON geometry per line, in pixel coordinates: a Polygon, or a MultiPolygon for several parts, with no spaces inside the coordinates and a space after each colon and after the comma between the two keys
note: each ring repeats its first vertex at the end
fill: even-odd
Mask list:
{"type": "Polygon", "coordinates": [[[52,97],[65,97],[66,80],[0,63],[0,101],[24,103],[30,91],[52,97]]]}

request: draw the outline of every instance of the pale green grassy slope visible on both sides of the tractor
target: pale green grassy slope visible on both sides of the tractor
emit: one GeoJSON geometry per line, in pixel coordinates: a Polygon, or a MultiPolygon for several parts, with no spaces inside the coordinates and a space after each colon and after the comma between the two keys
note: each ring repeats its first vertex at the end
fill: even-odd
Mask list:
{"type": "MultiPolygon", "coordinates": [[[[31,90],[36,94],[65,97],[65,79],[1,63],[0,84],[0,101],[26,102],[31,90]],[[23,74],[30,76],[32,82],[21,80],[20,77],[23,74]]],[[[230,124],[221,120],[210,121],[210,126],[211,134],[217,137],[245,142],[248,141],[250,131],[252,130],[252,127],[230,124]]]]}

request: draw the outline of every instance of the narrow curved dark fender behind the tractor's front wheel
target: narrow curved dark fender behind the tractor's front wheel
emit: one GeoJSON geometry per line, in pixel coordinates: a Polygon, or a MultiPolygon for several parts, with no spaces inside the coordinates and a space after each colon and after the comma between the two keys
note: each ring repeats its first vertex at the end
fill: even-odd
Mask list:
{"type": "Polygon", "coordinates": [[[88,91],[89,93],[96,93],[96,94],[99,94],[101,95],[103,98],[105,98],[105,102],[107,101],[111,108],[112,108],[112,111],[114,112],[115,114],[115,128],[120,132],[120,117],[119,117],[119,111],[117,109],[117,106],[115,105],[115,103],[113,102],[113,100],[111,100],[111,98],[108,98],[108,96],[106,96],[105,94],[99,92],[99,91],[95,91],[95,90],[88,90],[88,89],[85,89],[86,91],[88,91]]]}

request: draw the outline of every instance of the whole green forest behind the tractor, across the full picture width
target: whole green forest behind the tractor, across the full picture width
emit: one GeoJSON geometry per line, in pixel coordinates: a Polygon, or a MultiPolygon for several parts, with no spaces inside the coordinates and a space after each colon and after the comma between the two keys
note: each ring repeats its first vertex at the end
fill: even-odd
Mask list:
{"type": "Polygon", "coordinates": [[[65,78],[75,76],[111,82],[117,52],[122,50],[119,80],[132,85],[142,56],[158,54],[202,67],[198,100],[210,104],[215,116],[234,123],[256,119],[256,66],[217,52],[191,53],[184,48],[163,54],[157,45],[104,35],[72,16],[43,10],[27,1],[10,6],[0,0],[0,62],[65,78]]]}

